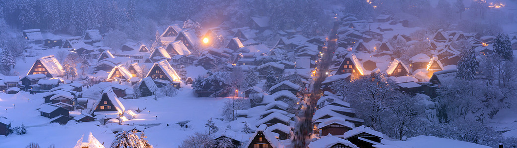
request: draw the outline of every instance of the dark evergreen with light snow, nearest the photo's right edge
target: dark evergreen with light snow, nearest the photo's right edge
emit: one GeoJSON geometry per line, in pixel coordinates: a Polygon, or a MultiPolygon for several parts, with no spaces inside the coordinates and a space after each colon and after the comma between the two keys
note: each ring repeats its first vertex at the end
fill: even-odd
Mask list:
{"type": "Polygon", "coordinates": [[[513,59],[513,50],[508,35],[499,33],[494,42],[494,53],[499,54],[505,60],[513,59]]]}

